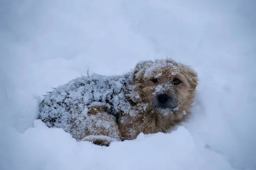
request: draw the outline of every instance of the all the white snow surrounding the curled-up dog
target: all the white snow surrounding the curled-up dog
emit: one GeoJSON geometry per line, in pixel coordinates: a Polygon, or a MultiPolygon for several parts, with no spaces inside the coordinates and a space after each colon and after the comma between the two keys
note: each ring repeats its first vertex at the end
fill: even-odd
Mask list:
{"type": "Polygon", "coordinates": [[[0,169],[256,169],[256,1],[3,0],[0,169]],[[198,72],[195,116],[170,134],[99,147],[35,120],[46,91],[143,59],[198,72]]]}

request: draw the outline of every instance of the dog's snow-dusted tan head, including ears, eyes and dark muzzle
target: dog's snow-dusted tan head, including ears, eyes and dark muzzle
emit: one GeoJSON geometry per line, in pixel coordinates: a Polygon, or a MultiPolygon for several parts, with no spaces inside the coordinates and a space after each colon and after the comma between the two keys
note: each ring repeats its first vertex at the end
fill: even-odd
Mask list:
{"type": "Polygon", "coordinates": [[[136,65],[134,83],[142,102],[169,114],[191,107],[197,75],[188,66],[173,60],[146,61],[136,65]]]}

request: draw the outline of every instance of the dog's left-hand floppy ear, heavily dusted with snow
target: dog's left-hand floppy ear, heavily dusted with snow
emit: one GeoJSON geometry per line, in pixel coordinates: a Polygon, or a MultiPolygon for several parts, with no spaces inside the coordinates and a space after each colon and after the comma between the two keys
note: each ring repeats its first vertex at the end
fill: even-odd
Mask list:
{"type": "Polygon", "coordinates": [[[134,68],[134,74],[133,74],[134,81],[143,82],[143,77],[144,77],[145,71],[147,70],[147,68],[150,67],[150,65],[152,63],[153,63],[153,61],[151,61],[151,60],[138,62],[134,68]]]}

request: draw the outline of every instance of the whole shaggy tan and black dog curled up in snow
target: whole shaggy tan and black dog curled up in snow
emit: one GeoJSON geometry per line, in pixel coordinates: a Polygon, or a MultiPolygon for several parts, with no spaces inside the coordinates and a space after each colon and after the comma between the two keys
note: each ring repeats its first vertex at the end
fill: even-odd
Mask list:
{"type": "Polygon", "coordinates": [[[170,59],[139,62],[122,76],[79,77],[49,92],[39,119],[77,140],[108,145],[141,132],[167,132],[185,121],[197,74],[170,59]]]}

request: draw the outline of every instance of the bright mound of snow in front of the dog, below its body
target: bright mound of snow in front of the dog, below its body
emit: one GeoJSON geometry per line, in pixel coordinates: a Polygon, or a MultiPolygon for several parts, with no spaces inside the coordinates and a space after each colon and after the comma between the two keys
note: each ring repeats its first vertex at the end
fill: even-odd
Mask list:
{"type": "Polygon", "coordinates": [[[100,147],[76,142],[64,130],[49,129],[40,120],[17,137],[15,166],[26,170],[233,170],[221,155],[200,152],[191,134],[179,127],[172,134],[140,134],[134,141],[100,147]],[[206,155],[206,156],[205,156],[206,155]],[[218,162],[218,164],[216,164],[218,162]]]}

